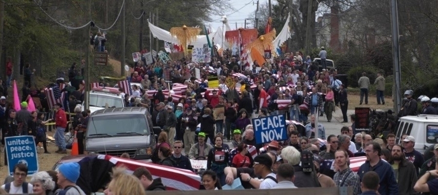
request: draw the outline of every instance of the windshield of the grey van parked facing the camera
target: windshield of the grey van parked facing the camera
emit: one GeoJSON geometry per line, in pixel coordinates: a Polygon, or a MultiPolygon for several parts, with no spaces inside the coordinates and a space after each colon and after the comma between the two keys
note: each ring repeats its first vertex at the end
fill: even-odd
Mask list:
{"type": "Polygon", "coordinates": [[[144,114],[119,114],[110,116],[94,116],[88,124],[87,134],[93,135],[145,135],[149,134],[144,114]]]}

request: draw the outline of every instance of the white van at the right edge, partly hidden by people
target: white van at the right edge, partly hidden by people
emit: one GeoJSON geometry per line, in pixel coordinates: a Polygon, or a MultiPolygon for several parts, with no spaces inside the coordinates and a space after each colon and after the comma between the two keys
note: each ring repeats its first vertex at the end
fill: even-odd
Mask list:
{"type": "Polygon", "coordinates": [[[438,115],[419,114],[417,116],[403,116],[396,127],[396,143],[400,143],[403,133],[415,137],[415,150],[420,153],[435,144],[438,144],[438,115]]]}

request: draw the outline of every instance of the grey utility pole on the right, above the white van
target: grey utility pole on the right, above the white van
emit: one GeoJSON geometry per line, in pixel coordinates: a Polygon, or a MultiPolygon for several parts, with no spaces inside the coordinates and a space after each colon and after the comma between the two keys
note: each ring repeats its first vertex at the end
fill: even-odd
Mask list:
{"type": "Polygon", "coordinates": [[[400,91],[400,43],[399,43],[399,14],[397,0],[391,0],[391,27],[392,27],[392,59],[394,61],[394,83],[392,95],[394,98],[394,110],[398,114],[401,109],[402,94],[400,91]]]}

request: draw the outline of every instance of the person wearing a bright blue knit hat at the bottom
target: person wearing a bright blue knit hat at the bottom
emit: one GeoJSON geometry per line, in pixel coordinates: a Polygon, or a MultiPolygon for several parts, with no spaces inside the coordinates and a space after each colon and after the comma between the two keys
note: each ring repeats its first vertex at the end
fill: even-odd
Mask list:
{"type": "Polygon", "coordinates": [[[57,184],[60,187],[59,195],[85,195],[84,191],[76,185],[80,169],[81,167],[77,162],[67,162],[59,166],[56,175],[58,177],[57,184]]]}

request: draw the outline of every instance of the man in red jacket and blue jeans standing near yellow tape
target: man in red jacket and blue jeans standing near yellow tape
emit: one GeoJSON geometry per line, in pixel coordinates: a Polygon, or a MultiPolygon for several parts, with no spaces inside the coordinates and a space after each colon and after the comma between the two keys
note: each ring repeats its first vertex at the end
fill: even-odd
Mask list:
{"type": "Polygon", "coordinates": [[[55,109],[56,109],[55,140],[56,140],[56,146],[58,146],[58,150],[56,150],[55,152],[61,154],[67,154],[67,150],[65,148],[65,139],[64,139],[65,128],[67,128],[67,117],[64,110],[62,109],[61,103],[56,103],[55,109]]]}

